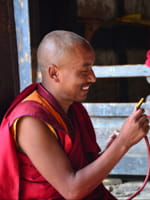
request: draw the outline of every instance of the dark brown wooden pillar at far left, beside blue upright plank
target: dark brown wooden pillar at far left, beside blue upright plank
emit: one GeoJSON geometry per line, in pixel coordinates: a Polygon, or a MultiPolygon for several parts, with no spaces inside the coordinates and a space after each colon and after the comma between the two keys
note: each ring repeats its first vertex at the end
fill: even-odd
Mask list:
{"type": "Polygon", "coordinates": [[[0,120],[19,92],[13,1],[0,0],[0,120]]]}

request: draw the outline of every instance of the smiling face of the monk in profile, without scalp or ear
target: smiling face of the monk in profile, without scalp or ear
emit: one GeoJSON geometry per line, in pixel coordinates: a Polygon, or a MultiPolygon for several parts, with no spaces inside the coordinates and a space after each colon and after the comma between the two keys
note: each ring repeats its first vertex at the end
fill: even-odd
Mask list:
{"type": "Polygon", "coordinates": [[[83,101],[91,83],[96,81],[92,66],[94,52],[88,46],[74,47],[74,54],[65,56],[65,64],[59,68],[59,100],[66,104],[83,101]]]}

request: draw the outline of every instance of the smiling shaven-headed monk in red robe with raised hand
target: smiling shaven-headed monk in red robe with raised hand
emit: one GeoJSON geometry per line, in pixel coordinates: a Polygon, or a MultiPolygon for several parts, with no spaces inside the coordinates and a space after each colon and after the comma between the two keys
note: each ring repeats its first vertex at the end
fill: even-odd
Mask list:
{"type": "Polygon", "coordinates": [[[28,86],[0,129],[0,199],[116,200],[102,181],[149,131],[135,108],[101,153],[82,105],[96,77],[87,40],[69,31],[48,33],[37,51],[41,83],[28,86]]]}

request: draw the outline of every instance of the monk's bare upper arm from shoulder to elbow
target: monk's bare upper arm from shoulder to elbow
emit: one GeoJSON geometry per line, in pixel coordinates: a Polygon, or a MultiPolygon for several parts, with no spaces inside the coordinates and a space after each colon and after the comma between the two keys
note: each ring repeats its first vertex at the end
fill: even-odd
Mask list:
{"type": "Polygon", "coordinates": [[[48,126],[34,117],[23,117],[18,122],[17,135],[20,148],[33,165],[49,183],[61,191],[72,167],[48,126]]]}

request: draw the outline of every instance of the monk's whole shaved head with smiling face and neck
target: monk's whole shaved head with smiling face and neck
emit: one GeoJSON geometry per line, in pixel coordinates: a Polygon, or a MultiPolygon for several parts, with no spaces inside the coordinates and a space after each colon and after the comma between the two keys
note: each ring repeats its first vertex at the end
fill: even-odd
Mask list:
{"type": "Polygon", "coordinates": [[[73,32],[53,31],[41,41],[37,51],[43,86],[67,112],[74,101],[87,97],[91,83],[94,51],[87,40],[73,32]]]}

